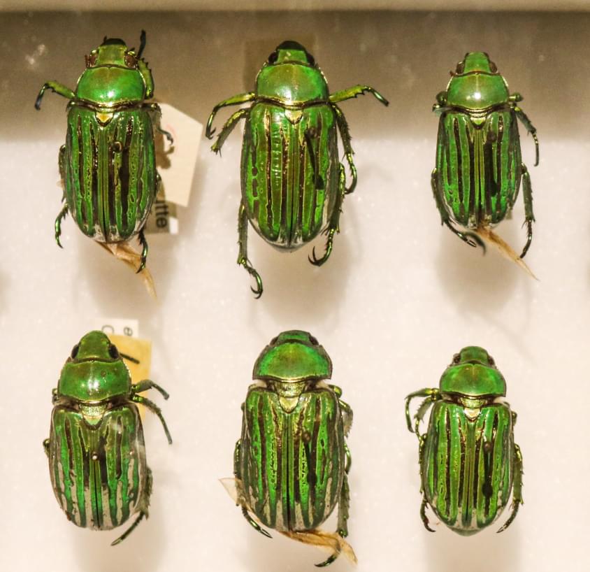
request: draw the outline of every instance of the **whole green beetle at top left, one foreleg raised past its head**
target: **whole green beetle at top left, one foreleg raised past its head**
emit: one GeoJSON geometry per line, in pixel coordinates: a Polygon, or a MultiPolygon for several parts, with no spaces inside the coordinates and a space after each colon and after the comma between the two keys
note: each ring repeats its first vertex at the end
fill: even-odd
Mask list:
{"type": "Polygon", "coordinates": [[[145,31],[138,52],[118,38],[105,37],[86,56],[75,92],[49,81],[35,103],[41,109],[47,89],[70,100],[66,144],[59,149],[65,204],[55,220],[57,244],[62,246],[59,236],[67,213],[100,243],[122,243],[138,235],[138,272],[147,258],[143,227],[160,185],[154,129],[171,141],[160,128],[159,106],[145,102],[154,94],[154,80],[141,58],[144,48],[145,31]]]}

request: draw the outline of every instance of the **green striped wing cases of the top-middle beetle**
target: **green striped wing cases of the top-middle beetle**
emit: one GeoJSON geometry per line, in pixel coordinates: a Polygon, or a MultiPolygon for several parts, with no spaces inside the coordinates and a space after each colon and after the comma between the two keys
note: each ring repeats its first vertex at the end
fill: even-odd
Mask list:
{"type": "Polygon", "coordinates": [[[315,238],[336,208],[339,169],[336,118],[328,105],[298,113],[265,102],[250,108],[242,200],[266,241],[294,249],[315,238]]]}

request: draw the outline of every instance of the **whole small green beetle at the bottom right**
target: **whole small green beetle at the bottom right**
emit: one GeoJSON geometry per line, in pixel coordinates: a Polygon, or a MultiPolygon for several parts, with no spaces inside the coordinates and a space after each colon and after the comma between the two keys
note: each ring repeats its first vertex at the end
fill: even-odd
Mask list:
{"type": "Polygon", "coordinates": [[[419,442],[424,527],[430,505],[447,527],[475,534],[494,522],[512,495],[515,519],[522,503],[522,456],[514,442],[516,413],[502,397],[506,382],[483,348],[463,348],[440,378],[438,389],[421,389],[405,399],[408,429],[419,442]],[[412,427],[410,401],[424,397],[412,427]],[[419,424],[433,406],[428,431],[419,424]]]}

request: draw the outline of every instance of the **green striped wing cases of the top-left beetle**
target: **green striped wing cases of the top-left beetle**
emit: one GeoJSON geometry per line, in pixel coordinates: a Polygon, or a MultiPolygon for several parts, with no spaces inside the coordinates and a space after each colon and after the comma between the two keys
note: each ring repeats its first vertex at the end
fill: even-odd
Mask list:
{"type": "Polygon", "coordinates": [[[150,214],[159,176],[151,106],[99,112],[69,106],[60,168],[66,203],[80,230],[105,243],[135,236],[150,214]]]}

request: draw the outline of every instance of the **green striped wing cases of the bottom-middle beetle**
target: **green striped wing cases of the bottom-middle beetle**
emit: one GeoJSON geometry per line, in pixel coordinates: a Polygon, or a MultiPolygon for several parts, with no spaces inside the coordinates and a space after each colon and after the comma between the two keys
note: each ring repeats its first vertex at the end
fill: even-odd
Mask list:
{"type": "Polygon", "coordinates": [[[240,475],[252,512],[267,527],[319,527],[338,503],[345,468],[343,422],[329,387],[310,389],[286,412],[264,387],[248,391],[240,475]]]}

